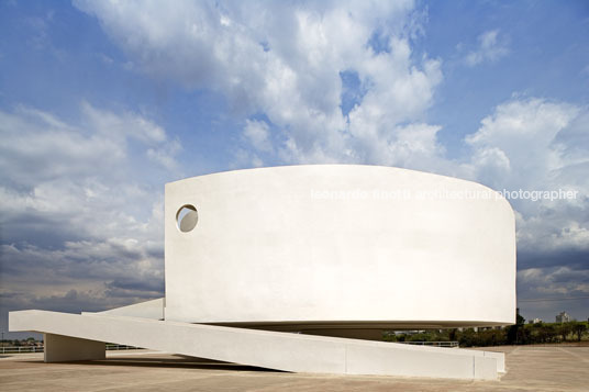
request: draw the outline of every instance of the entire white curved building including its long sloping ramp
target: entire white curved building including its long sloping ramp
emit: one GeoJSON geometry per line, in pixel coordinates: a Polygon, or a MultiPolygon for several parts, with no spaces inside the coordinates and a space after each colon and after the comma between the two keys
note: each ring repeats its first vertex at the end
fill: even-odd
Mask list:
{"type": "Polygon", "coordinates": [[[165,299],[11,312],[11,331],[45,333],[46,361],[103,358],[101,341],[113,341],[289,371],[504,371],[500,354],[342,338],[514,323],[513,211],[486,187],[389,167],[287,166],[168,183],[165,209],[165,299]]]}

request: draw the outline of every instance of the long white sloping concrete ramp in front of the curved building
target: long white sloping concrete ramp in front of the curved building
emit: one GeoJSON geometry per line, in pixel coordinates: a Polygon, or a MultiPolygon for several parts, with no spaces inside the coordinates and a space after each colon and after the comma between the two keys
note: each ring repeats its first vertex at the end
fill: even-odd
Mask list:
{"type": "Polygon", "coordinates": [[[111,341],[309,373],[493,380],[498,371],[504,369],[504,357],[498,352],[178,323],[108,313],[10,312],[9,329],[46,334],[45,340],[53,345],[46,347],[45,361],[52,361],[52,358],[59,361],[100,359],[104,356],[103,352],[97,354],[96,341],[111,341]],[[54,338],[52,335],[67,338],[54,338]],[[75,355],[77,351],[88,354],[80,358],[75,355]]]}

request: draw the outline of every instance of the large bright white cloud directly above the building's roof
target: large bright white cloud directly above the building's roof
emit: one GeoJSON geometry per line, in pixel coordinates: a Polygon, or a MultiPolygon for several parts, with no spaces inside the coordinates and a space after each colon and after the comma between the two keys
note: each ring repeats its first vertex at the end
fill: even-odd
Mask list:
{"type": "MultiPolygon", "coordinates": [[[[259,164],[259,154],[286,163],[402,163],[397,154],[407,153],[407,135],[398,133],[435,128],[422,117],[442,80],[441,63],[413,59],[411,37],[424,18],[411,1],[76,4],[144,72],[221,92],[249,117],[248,146],[235,148],[245,165],[259,164]],[[362,94],[346,86],[342,75],[349,74],[362,94]],[[346,92],[356,101],[343,109],[346,92]],[[267,122],[253,117],[259,113],[267,122]],[[278,133],[275,148],[268,127],[278,133]],[[244,154],[246,147],[258,154],[244,154]]],[[[426,135],[435,154],[435,132],[426,135]]]]}

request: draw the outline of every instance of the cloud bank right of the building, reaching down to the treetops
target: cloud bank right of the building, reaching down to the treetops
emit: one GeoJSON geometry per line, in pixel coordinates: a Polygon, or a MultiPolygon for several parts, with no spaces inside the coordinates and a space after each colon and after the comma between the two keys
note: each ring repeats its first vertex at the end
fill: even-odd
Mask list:
{"type": "MultiPolygon", "coordinates": [[[[522,300],[589,295],[589,154],[587,108],[537,98],[499,104],[465,139],[465,173],[498,190],[576,192],[575,199],[510,200],[518,234],[522,300]],[[585,130],[582,132],[581,130],[585,130]]],[[[522,302],[527,314],[553,312],[549,302],[522,302]]],[[[586,310],[567,301],[569,312],[586,310]]]]}

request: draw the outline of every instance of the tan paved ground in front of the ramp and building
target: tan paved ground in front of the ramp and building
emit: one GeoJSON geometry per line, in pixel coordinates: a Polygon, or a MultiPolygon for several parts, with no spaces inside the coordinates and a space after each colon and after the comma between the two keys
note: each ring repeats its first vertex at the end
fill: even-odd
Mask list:
{"type": "MultiPolygon", "coordinates": [[[[451,348],[448,348],[451,349],[451,348]]],[[[489,349],[489,348],[487,348],[489,349]]],[[[267,371],[153,351],[107,360],[44,363],[42,355],[0,359],[1,391],[588,391],[589,347],[505,346],[498,381],[316,376],[267,371]]]]}

